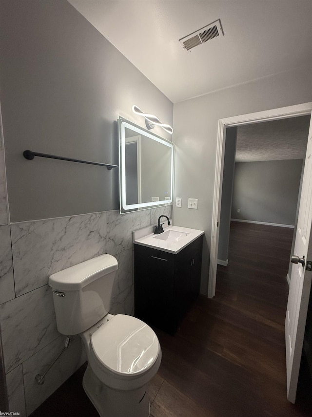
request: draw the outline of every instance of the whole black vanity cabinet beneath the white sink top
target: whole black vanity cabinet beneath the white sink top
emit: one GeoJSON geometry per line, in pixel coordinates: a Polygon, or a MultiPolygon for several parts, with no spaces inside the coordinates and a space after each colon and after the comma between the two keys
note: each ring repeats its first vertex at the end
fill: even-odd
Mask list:
{"type": "Polygon", "coordinates": [[[135,244],[135,316],[174,334],[200,289],[203,236],[177,254],[135,244]]]}

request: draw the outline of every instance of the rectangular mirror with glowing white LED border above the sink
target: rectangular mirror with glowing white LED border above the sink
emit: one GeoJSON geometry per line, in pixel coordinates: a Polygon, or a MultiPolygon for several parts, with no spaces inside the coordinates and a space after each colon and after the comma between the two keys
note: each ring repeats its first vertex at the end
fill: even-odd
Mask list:
{"type": "Polygon", "coordinates": [[[174,144],[119,117],[120,213],[173,201],[174,144]]]}

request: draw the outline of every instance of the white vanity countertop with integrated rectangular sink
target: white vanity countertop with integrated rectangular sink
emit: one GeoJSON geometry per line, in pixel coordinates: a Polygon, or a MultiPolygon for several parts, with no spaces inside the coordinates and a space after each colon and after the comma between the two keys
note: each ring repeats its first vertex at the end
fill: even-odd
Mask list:
{"type": "Polygon", "coordinates": [[[154,227],[145,227],[144,229],[133,232],[133,242],[164,252],[178,253],[188,244],[204,234],[202,230],[173,225],[166,226],[163,224],[163,233],[155,235],[154,227]]]}

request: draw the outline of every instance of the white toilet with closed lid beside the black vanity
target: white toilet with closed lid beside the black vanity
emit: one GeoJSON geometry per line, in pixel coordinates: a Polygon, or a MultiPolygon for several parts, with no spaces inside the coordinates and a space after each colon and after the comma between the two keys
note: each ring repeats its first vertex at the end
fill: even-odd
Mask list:
{"type": "Polygon", "coordinates": [[[83,341],[83,388],[101,417],[148,417],[146,385],[158,371],[161,349],[147,324],[109,314],[117,269],[117,260],[105,254],[51,275],[57,327],[83,341]]]}

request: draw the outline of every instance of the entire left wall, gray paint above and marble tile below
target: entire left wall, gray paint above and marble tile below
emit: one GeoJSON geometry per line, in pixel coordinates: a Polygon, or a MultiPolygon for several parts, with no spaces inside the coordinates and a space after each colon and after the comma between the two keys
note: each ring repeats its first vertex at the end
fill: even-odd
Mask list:
{"type": "Polygon", "coordinates": [[[86,359],[74,337],[44,384],[35,381],[64,343],[49,275],[110,253],[110,312],[133,314],[132,231],[171,217],[171,206],[120,215],[109,210],[118,207],[117,170],[22,152],[117,163],[118,115],[142,125],[137,104],[172,124],[173,104],[67,1],[1,0],[0,39],[0,327],[9,411],[25,417],[86,359]]]}

